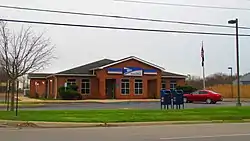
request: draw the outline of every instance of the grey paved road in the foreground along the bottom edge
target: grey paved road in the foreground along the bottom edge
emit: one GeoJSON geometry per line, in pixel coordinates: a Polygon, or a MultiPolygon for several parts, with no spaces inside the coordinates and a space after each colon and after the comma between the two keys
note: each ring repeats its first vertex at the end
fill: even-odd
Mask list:
{"type": "Polygon", "coordinates": [[[0,129],[2,141],[249,141],[250,124],[0,129]]]}

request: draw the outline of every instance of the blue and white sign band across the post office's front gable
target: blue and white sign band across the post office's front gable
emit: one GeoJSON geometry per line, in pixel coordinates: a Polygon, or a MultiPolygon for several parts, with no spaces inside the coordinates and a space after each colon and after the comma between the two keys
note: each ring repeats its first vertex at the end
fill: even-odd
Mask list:
{"type": "Polygon", "coordinates": [[[142,69],[138,67],[108,68],[108,74],[123,74],[125,76],[157,75],[154,69],[142,69]]]}

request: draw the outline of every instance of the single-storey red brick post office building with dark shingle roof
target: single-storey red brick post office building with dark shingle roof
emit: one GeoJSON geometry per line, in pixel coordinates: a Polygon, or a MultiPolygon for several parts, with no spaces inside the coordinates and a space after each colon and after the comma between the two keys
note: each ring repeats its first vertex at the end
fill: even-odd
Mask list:
{"type": "Polygon", "coordinates": [[[30,73],[30,95],[58,98],[58,88],[76,84],[84,99],[159,98],[160,90],[185,84],[186,76],[131,56],[103,59],[55,74],[30,73]]]}

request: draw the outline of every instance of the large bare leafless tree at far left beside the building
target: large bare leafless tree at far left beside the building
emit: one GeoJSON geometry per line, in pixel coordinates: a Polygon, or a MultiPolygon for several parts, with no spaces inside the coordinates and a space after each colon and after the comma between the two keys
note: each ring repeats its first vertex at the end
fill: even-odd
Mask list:
{"type": "Polygon", "coordinates": [[[11,81],[11,111],[14,111],[16,80],[28,72],[47,66],[54,58],[54,46],[43,34],[35,35],[31,28],[10,32],[0,21],[0,66],[11,81]]]}

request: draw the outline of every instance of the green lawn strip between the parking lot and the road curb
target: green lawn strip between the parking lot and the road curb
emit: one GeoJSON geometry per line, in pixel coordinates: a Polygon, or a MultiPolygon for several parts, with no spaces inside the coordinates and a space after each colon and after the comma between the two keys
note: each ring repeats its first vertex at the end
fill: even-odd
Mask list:
{"type": "Polygon", "coordinates": [[[148,122],[250,119],[250,107],[201,108],[185,110],[58,110],[0,111],[0,119],[51,122],[148,122]]]}

